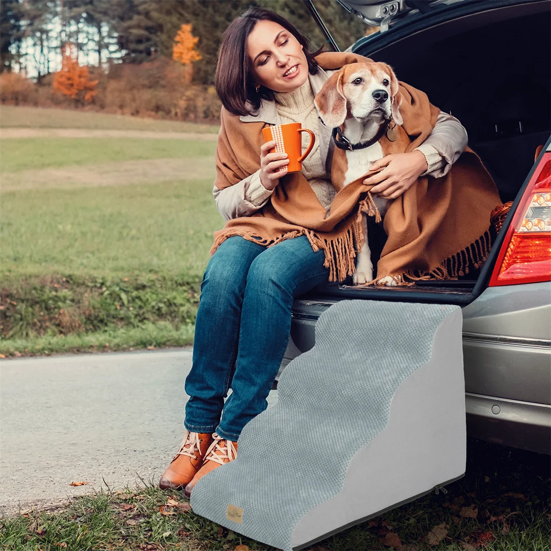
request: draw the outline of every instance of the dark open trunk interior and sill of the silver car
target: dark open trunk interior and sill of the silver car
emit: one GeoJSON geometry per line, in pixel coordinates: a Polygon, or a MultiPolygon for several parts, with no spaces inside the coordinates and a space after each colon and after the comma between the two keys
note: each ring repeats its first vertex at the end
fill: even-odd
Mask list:
{"type": "MultiPolygon", "coordinates": [[[[473,8],[465,2],[464,14],[458,13],[460,4],[423,20],[404,20],[386,33],[359,40],[352,50],[390,64],[399,80],[425,91],[432,104],[457,117],[505,203],[515,199],[537,146],[549,139],[550,4],[480,1],[473,8]],[[478,11],[472,13],[474,9],[478,11]]],[[[380,225],[370,224],[376,265],[385,234],[380,225]]],[[[506,225],[501,233],[505,230],[506,225]]],[[[493,249],[499,248],[499,239],[493,237],[493,249]]],[[[355,289],[347,280],[314,293],[467,304],[486,286],[496,252],[490,252],[482,268],[459,280],[367,289],[355,289]]]]}

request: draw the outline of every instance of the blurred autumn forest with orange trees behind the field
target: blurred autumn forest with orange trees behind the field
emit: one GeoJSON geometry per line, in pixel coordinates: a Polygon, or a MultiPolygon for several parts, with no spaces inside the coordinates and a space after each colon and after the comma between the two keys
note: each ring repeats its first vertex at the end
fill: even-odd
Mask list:
{"type": "MultiPolygon", "coordinates": [[[[0,101],[218,122],[220,36],[254,4],[326,44],[299,0],[2,0],[0,101]]],[[[337,2],[315,5],[341,50],[375,30],[337,2]]]]}

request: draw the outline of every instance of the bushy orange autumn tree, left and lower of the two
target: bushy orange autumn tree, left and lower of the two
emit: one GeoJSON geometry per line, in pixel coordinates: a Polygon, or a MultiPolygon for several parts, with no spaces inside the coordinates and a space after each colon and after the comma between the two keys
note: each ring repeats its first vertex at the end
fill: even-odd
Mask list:
{"type": "Polygon", "coordinates": [[[78,64],[77,47],[68,42],[63,51],[61,71],[53,75],[53,89],[84,104],[98,93],[95,90],[98,80],[91,80],[88,67],[78,64]]]}

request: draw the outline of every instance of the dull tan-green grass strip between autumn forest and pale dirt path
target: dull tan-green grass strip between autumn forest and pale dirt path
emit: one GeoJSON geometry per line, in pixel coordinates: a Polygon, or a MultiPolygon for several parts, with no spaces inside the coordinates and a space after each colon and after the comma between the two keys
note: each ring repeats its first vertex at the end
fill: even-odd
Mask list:
{"type": "Polygon", "coordinates": [[[110,130],[149,130],[153,132],[217,133],[217,125],[162,121],[128,115],[108,115],[69,109],[0,106],[0,128],[89,128],[110,130]]]}

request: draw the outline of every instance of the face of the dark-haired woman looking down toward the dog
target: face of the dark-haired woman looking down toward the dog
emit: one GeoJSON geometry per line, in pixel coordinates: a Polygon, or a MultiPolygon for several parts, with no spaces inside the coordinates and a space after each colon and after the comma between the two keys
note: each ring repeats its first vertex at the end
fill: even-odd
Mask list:
{"type": "Polygon", "coordinates": [[[255,87],[276,92],[296,90],[308,78],[308,62],[302,45],[274,21],[258,21],[247,41],[255,87]]]}

